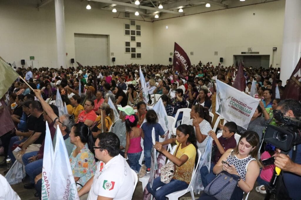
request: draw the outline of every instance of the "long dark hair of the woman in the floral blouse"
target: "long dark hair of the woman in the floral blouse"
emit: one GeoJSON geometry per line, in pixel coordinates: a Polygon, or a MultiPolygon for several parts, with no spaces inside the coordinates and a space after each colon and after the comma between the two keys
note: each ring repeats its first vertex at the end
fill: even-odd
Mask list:
{"type": "Polygon", "coordinates": [[[74,127],[74,136],[79,136],[80,141],[82,143],[87,143],[89,150],[95,155],[94,148],[93,148],[94,146],[93,135],[89,127],[82,122],[75,124],[73,127],[74,127]]]}

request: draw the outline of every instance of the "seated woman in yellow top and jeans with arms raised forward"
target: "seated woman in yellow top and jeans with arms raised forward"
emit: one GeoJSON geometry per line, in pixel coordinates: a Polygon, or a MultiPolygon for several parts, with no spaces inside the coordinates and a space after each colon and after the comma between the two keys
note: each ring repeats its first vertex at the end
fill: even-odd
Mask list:
{"type": "Polygon", "coordinates": [[[156,150],[163,153],[171,162],[175,164],[175,174],[169,183],[163,183],[160,177],[153,181],[153,186],[150,183],[146,188],[156,200],[165,200],[166,195],[182,189],[186,189],[191,181],[191,175],[194,166],[197,164],[197,139],[194,134],[194,129],[191,125],[182,124],[177,128],[176,138],[170,138],[164,142],[156,142],[156,150]],[[177,148],[172,155],[163,145],[176,143],[177,148]],[[161,187],[160,189],[158,189],[161,187]],[[157,190],[158,189],[158,190],[157,190]]]}

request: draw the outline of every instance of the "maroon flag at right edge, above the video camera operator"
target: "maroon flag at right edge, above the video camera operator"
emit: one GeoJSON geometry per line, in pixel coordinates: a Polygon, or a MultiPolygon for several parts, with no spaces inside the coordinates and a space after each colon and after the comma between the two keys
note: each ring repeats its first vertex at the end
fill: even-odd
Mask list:
{"type": "Polygon", "coordinates": [[[296,100],[301,100],[301,58],[293,71],[288,83],[285,86],[284,94],[282,99],[293,98],[296,100]]]}

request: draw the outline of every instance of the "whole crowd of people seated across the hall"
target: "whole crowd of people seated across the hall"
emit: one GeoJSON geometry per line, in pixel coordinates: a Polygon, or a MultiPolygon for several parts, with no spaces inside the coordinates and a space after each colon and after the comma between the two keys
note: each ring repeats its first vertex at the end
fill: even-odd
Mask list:
{"type": "MultiPolygon", "coordinates": [[[[214,84],[216,80],[221,80],[232,86],[236,67],[220,64],[213,66],[210,62],[203,65],[200,62],[198,65],[192,65],[183,74],[178,74],[171,66],[165,65],[141,65],[141,69],[149,102],[143,100],[145,94],[141,88],[139,65],[80,66],[67,69],[16,68],[17,73],[25,77],[34,90],[20,79],[11,85],[6,105],[15,128],[9,132],[3,132],[3,129],[0,139],[4,147],[4,156],[10,156],[12,162],[20,162],[25,166],[30,182],[25,184],[24,188],[36,188],[35,195],[41,198],[47,122],[54,147],[55,130],[59,127],[62,132],[81,199],[97,199],[101,194],[108,198],[119,199],[117,197],[124,196],[125,199],[130,199],[129,189],[117,183],[116,187],[123,188],[119,192],[100,193],[102,183],[95,175],[103,176],[101,180],[107,180],[110,175],[117,179],[119,176],[120,180],[124,179],[126,183],[129,177],[120,174],[120,170],[122,172],[124,168],[131,168],[139,177],[143,177],[151,172],[153,147],[175,165],[175,174],[169,183],[163,183],[158,177],[154,179],[152,186],[146,186],[155,199],[166,199],[166,195],[188,187],[191,174],[196,170],[197,152],[199,150],[201,154],[204,153],[210,137],[213,139],[211,167],[208,169],[200,166],[197,169],[200,170],[203,186],[209,185],[217,174],[227,171],[229,174],[240,176],[231,199],[242,199],[244,192],[252,191],[256,181],[258,186],[254,189],[264,194],[274,167],[262,166],[258,157],[265,127],[268,124],[278,126],[273,118],[273,110],[295,118],[300,117],[301,113],[299,102],[272,98],[273,80],[277,80],[281,97],[285,89],[279,80],[279,69],[244,68],[247,85],[244,92],[250,94],[254,80],[258,92],[253,97],[261,101],[247,129],[237,126],[234,122],[227,122],[224,126],[220,125],[216,132],[213,131],[213,119],[209,114],[214,112],[214,84]],[[67,113],[61,116],[55,106],[57,92],[67,107],[67,113]],[[159,95],[160,98],[155,95],[159,95]],[[159,99],[162,99],[168,116],[177,115],[175,120],[178,121],[182,119],[182,113],[178,110],[189,108],[191,118],[186,124],[178,126],[175,123],[175,136],[166,138],[163,142],[159,142],[159,136],[164,138],[167,135],[158,123],[159,116],[151,107],[159,99]],[[115,111],[118,112],[119,118],[115,111]],[[156,145],[152,143],[153,128],[156,145]],[[221,137],[217,136],[218,131],[222,133],[221,137]],[[237,134],[240,135],[238,143],[234,138],[237,134]],[[106,140],[111,143],[103,143],[106,140]],[[163,148],[166,144],[177,145],[175,153],[171,154],[163,148]],[[14,150],[17,147],[20,151],[14,150]],[[141,156],[144,157],[144,164],[139,163],[141,156]],[[123,162],[124,158],[128,159],[129,164],[123,162]],[[98,160],[100,162],[97,162],[98,160]],[[122,164],[114,166],[114,163],[122,164]],[[103,175],[99,172],[101,166],[106,169],[103,175]]],[[[4,109],[0,109],[0,114],[3,112],[4,109]]],[[[300,186],[301,147],[297,149],[297,156],[293,161],[291,152],[290,157],[285,156],[278,153],[271,144],[264,143],[261,150],[261,159],[275,156],[275,166],[284,170],[286,195],[297,199],[300,191],[294,188],[300,186]]],[[[0,163],[0,166],[6,166],[6,162],[0,163]]],[[[203,193],[200,199],[215,198],[203,193]]]]}

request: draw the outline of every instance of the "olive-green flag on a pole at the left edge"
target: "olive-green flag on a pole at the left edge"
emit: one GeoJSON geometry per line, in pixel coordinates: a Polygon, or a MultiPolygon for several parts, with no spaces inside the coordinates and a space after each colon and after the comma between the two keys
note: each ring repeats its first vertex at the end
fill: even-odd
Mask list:
{"type": "Polygon", "coordinates": [[[14,69],[0,57],[0,98],[7,92],[11,84],[19,77],[14,69]]]}

